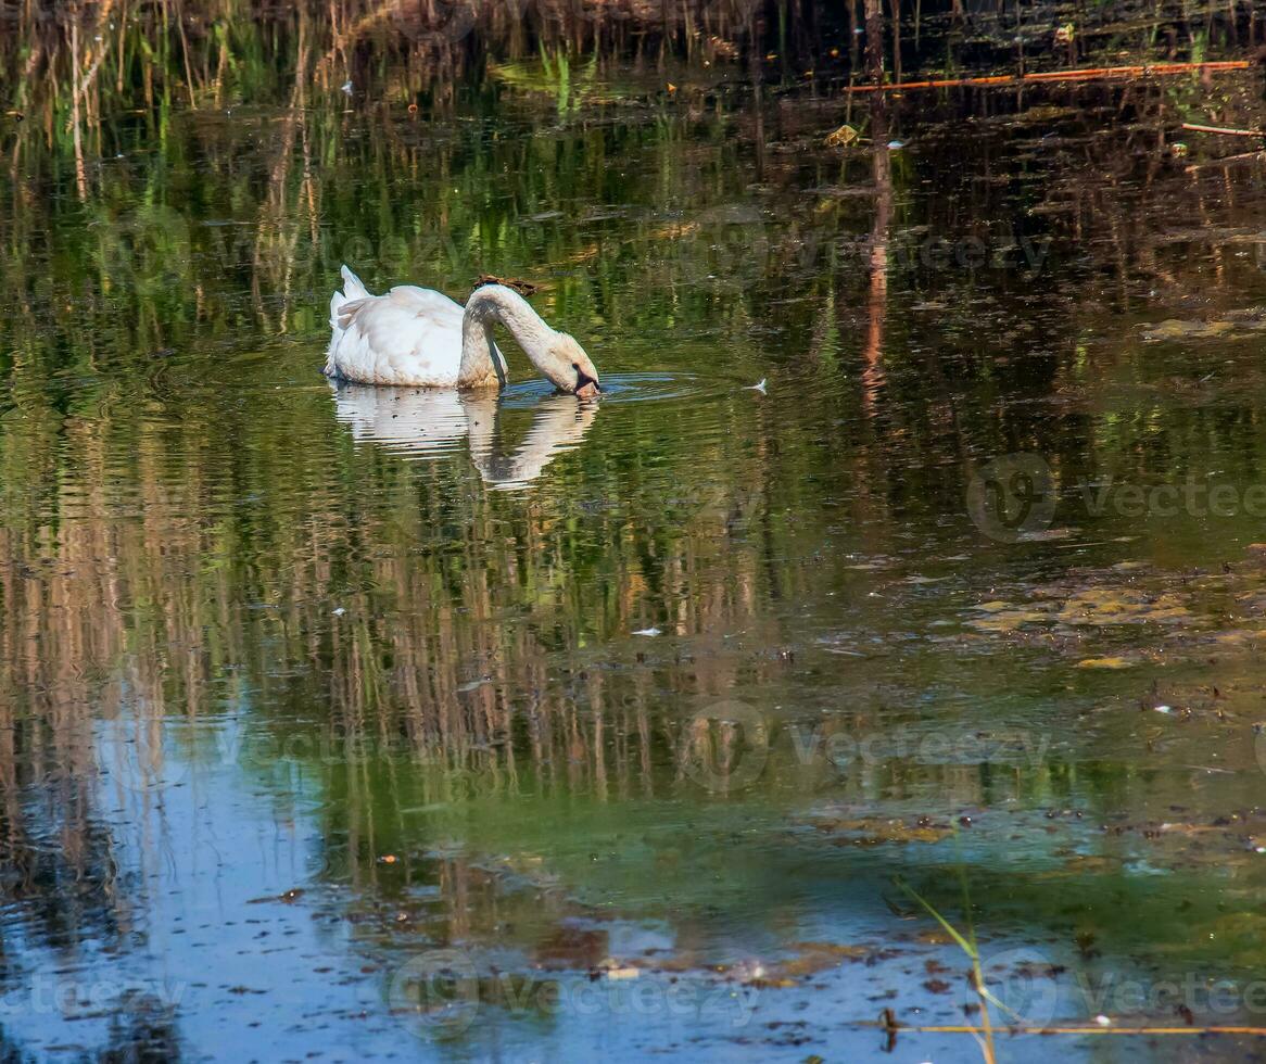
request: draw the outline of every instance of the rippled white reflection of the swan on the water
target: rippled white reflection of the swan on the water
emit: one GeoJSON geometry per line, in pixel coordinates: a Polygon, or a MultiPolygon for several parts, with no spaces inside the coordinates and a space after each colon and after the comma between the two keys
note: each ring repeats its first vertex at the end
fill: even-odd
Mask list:
{"type": "Polygon", "coordinates": [[[334,417],[357,442],[379,443],[405,459],[454,453],[470,441],[471,460],[494,489],[525,488],[560,453],[576,447],[598,417],[598,403],[575,395],[547,395],[532,409],[532,427],[518,448],[498,452],[498,394],[451,389],[334,388],[334,417]]]}

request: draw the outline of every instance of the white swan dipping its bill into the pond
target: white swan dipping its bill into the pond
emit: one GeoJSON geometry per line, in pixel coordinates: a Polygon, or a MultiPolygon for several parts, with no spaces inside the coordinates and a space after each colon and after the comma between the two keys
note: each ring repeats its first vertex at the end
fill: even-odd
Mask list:
{"type": "Polygon", "coordinates": [[[517,291],[484,285],[463,310],[447,295],[400,285],[370,295],[343,267],[343,291],[329,301],[325,376],[356,384],[415,388],[504,388],[505,357],[492,342],[500,322],[560,391],[600,391],[598,370],[567,333],[556,332],[517,291]]]}

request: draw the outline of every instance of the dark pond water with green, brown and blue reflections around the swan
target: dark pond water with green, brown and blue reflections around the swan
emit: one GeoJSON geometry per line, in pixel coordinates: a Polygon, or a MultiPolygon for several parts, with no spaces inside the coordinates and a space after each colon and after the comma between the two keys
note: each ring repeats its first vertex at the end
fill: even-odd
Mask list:
{"type": "Polygon", "coordinates": [[[0,176],[5,1059],[979,1059],[919,898],[996,1026],[1261,1026],[1260,73],[603,77],[0,176]],[[344,261],[606,394],[332,388],[344,261]]]}

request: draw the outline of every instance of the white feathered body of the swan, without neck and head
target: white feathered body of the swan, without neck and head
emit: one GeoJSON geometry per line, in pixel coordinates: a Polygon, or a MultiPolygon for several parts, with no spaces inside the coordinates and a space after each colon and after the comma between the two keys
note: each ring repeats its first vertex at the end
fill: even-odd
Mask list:
{"type": "MultiPolygon", "coordinates": [[[[361,384],[454,388],[462,361],[460,303],[438,291],[400,285],[371,295],[347,266],[343,291],[329,304],[325,375],[361,384]]],[[[503,375],[505,358],[495,345],[503,375]]],[[[498,381],[492,356],[484,377],[498,381]]]]}

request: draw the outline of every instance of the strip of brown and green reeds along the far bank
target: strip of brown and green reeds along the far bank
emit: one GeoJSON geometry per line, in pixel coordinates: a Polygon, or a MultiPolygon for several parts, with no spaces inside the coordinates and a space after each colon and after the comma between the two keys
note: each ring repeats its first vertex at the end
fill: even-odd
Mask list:
{"type": "Polygon", "coordinates": [[[1262,33],[1252,5],[1218,0],[1079,9],[1072,47],[1053,39],[1053,27],[1069,14],[1053,3],[1008,8],[993,0],[901,0],[896,24],[887,4],[877,19],[863,23],[863,3],[346,0],[332,9],[323,0],[285,6],[184,0],[179,18],[141,9],[122,19],[110,3],[94,10],[34,0],[8,13],[0,71],[15,86],[6,105],[72,118],[81,151],[85,138],[91,147],[94,134],[101,134],[103,115],[141,103],[152,110],[172,99],[213,109],[257,100],[295,67],[309,67],[324,92],[338,91],[348,79],[360,89],[385,67],[401,96],[423,86],[451,101],[461,76],[490,61],[538,52],[592,53],[608,63],[623,60],[647,68],[676,57],[736,65],[751,60],[790,80],[806,67],[823,75],[861,73],[860,29],[882,38],[895,72],[924,61],[948,68],[1010,66],[1019,56],[1058,65],[1105,46],[1175,58],[1205,48],[1252,47],[1262,33]],[[225,20],[232,20],[232,33],[219,32],[225,20]],[[879,30],[870,33],[875,23],[879,30]],[[82,87],[71,95],[76,75],[82,87]]]}

